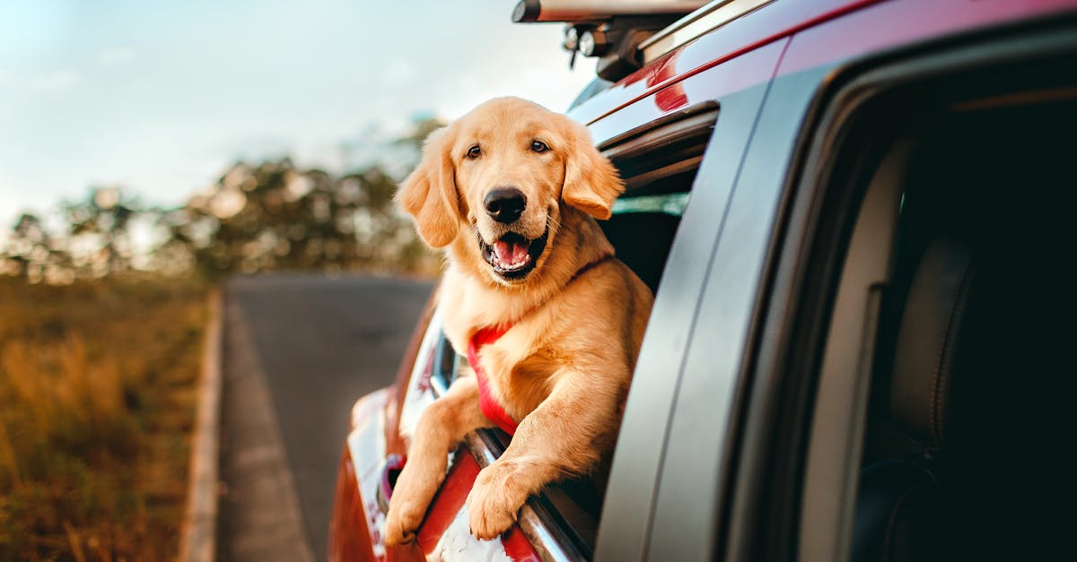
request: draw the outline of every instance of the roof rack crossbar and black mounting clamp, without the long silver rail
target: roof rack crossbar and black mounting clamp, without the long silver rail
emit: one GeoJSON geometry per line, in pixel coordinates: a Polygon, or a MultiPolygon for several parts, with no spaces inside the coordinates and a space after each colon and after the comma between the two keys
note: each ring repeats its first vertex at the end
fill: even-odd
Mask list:
{"type": "Polygon", "coordinates": [[[599,57],[598,75],[615,82],[642,67],[639,46],[707,0],[520,0],[513,22],[568,24],[561,46],[599,57]]]}

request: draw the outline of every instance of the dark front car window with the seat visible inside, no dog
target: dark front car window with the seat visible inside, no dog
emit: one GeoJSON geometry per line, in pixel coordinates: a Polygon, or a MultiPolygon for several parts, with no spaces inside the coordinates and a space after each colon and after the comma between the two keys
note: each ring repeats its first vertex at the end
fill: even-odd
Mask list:
{"type": "Polygon", "coordinates": [[[758,535],[731,558],[1064,551],[1077,45],[1030,37],[837,81],[872,95],[835,96],[789,203],[751,390],[772,409],[744,422],[772,445],[735,491],[758,535]]]}

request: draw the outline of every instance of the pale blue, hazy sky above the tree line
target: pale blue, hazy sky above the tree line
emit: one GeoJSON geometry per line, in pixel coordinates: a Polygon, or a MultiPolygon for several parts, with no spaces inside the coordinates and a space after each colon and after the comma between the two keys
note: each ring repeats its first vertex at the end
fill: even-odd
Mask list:
{"type": "Polygon", "coordinates": [[[514,4],[4,1],[0,233],[90,186],[178,205],[239,158],[332,169],[341,146],[494,96],[563,111],[593,61],[570,71],[561,26],[513,24],[514,4]]]}

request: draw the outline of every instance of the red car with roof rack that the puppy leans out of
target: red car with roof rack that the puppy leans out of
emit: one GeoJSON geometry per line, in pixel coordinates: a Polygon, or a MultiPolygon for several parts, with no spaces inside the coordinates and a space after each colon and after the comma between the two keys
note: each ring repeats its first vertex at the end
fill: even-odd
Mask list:
{"type": "Polygon", "coordinates": [[[435,295],[352,410],[331,559],[1072,559],[1077,2],[699,3],[514,15],[601,57],[570,115],[655,290],[609,475],[479,542],[464,500],[509,441],[477,432],[384,548],[401,428],[460,363],[435,295]]]}

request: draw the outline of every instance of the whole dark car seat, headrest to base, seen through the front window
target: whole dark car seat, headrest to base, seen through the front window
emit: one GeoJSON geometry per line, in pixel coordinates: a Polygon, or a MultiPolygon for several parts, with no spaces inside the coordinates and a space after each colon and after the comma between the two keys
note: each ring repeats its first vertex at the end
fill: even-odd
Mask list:
{"type": "Polygon", "coordinates": [[[953,398],[962,380],[962,329],[976,277],[973,249],[952,238],[928,243],[909,287],[894,349],[890,383],[893,425],[911,439],[911,453],[883,459],[861,474],[852,559],[936,560],[953,398]],[[957,382],[955,382],[957,381],[957,382]]]}

